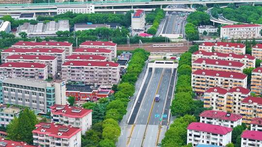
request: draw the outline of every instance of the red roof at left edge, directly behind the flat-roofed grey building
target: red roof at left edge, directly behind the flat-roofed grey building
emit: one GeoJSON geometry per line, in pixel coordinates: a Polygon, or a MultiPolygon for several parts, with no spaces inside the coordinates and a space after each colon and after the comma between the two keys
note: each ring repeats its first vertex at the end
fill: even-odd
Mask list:
{"type": "Polygon", "coordinates": [[[29,63],[29,62],[6,62],[0,65],[0,67],[10,68],[45,68],[47,65],[42,63],[29,63]]]}

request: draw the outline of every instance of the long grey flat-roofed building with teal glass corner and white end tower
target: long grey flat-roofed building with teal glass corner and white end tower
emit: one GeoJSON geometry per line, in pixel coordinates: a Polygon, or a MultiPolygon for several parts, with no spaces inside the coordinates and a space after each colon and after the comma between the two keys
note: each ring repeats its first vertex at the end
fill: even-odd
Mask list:
{"type": "Polygon", "coordinates": [[[66,104],[66,81],[51,82],[28,78],[7,78],[2,81],[3,103],[30,107],[41,114],[50,112],[54,104],[66,104]]]}

